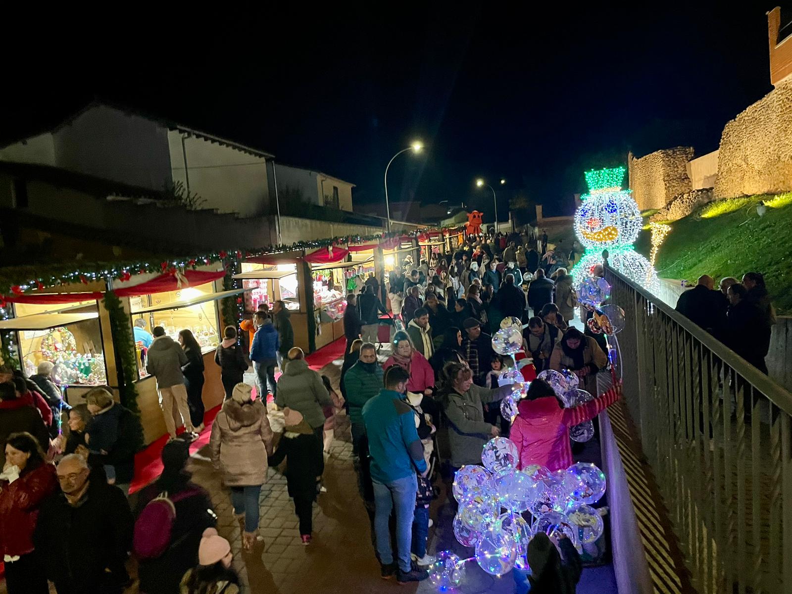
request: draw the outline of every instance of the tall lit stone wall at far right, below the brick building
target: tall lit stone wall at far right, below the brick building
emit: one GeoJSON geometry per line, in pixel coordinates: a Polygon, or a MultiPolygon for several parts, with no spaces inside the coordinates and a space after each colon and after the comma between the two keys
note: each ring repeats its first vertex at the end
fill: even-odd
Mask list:
{"type": "Polygon", "coordinates": [[[792,191],[792,81],[779,83],[721,135],[715,198],[792,191]]]}

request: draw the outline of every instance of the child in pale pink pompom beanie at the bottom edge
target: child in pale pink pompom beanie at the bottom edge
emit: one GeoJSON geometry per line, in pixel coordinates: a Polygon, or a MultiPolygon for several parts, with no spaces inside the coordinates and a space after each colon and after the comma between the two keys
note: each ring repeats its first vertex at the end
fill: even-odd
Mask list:
{"type": "MultiPolygon", "coordinates": [[[[181,594],[239,594],[239,577],[231,569],[231,546],[214,528],[207,528],[198,546],[198,565],[181,579],[181,594]]],[[[176,592],[176,590],[173,590],[176,592]]]]}

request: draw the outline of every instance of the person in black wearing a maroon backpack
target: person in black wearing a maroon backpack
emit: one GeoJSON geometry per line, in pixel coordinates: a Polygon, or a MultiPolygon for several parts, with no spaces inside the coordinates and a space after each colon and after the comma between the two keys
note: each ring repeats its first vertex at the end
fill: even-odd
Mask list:
{"type": "Polygon", "coordinates": [[[198,562],[204,530],[217,523],[209,494],[185,469],[188,459],[185,441],[166,444],[162,474],[139,493],[132,550],[141,594],[178,592],[181,578],[198,562]]]}

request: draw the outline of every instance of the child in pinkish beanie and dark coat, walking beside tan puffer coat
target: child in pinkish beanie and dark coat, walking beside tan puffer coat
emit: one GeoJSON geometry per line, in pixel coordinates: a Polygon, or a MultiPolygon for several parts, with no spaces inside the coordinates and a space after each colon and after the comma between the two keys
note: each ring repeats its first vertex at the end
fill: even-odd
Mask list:
{"type": "Polygon", "coordinates": [[[318,448],[318,436],[303,415],[284,409],[284,436],[275,454],[268,458],[269,466],[286,460],[286,484],[289,497],[295,501],[299,518],[299,535],[304,545],[310,544],[313,531],[313,506],[316,501],[318,477],[325,471],[325,459],[318,448]]]}

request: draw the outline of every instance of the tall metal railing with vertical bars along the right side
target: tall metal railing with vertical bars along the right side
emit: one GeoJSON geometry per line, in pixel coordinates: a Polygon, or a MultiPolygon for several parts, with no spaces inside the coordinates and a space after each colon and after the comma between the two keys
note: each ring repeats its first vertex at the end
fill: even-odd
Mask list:
{"type": "Polygon", "coordinates": [[[792,395],[642,287],[605,277],[626,313],[624,398],[692,584],[792,592],[792,395]]]}

